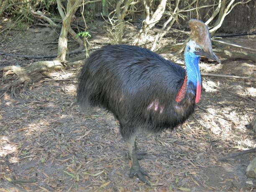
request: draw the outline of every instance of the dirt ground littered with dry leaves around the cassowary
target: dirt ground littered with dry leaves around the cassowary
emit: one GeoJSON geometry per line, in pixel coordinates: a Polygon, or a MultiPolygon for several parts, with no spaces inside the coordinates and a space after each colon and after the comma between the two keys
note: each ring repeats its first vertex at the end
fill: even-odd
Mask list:
{"type": "MultiPolygon", "coordinates": [[[[93,48],[109,41],[96,29],[93,48]]],[[[0,51],[56,54],[56,37],[50,28],[13,31],[0,36],[0,51]]],[[[256,49],[256,36],[225,40],[256,49]]],[[[252,61],[221,59],[222,64],[201,63],[201,72],[256,76],[252,61]]],[[[0,66],[39,60],[49,59],[0,55],[0,66]]],[[[54,72],[54,79],[74,74],[54,72]]],[[[102,108],[79,109],[76,81],[35,83],[18,98],[6,93],[0,98],[0,191],[256,191],[256,179],[246,177],[256,154],[219,160],[256,147],[255,133],[245,127],[256,116],[255,81],[203,76],[202,82],[200,103],[184,125],[138,136],[139,148],[148,152],[140,162],[151,176],[150,187],[128,177],[128,148],[113,115],[102,108]]]]}

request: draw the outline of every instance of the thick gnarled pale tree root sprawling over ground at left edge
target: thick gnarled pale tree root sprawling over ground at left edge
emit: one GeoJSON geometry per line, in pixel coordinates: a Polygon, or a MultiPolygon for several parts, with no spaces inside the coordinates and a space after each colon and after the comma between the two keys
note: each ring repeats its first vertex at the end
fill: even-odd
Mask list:
{"type": "Polygon", "coordinates": [[[26,67],[8,66],[0,68],[1,88],[0,98],[8,91],[17,97],[16,93],[24,89],[25,91],[34,82],[49,77],[50,72],[63,69],[64,65],[60,61],[37,61],[26,67]]]}

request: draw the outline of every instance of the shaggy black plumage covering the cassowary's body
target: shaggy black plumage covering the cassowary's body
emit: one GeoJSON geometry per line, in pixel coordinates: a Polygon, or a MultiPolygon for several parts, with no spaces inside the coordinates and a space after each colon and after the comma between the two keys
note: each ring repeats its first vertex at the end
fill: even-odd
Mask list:
{"type": "Polygon", "coordinates": [[[95,51],[79,75],[77,101],[115,115],[127,140],[140,131],[159,132],[183,123],[194,111],[195,87],[175,102],[185,69],[137,46],[109,45],[95,51]]]}

